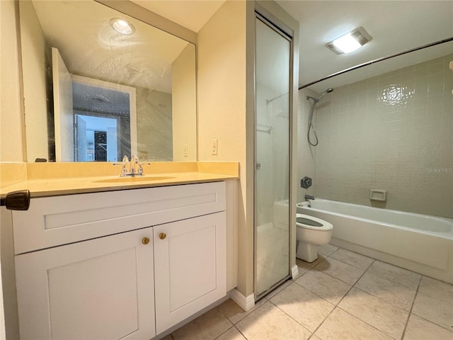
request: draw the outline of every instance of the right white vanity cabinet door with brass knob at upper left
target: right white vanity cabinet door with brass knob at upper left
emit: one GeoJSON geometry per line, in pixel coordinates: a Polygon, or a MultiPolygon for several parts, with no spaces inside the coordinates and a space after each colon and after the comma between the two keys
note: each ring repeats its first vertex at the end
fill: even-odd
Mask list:
{"type": "Polygon", "coordinates": [[[154,227],[157,334],[226,295],[225,212],[154,227]]]}

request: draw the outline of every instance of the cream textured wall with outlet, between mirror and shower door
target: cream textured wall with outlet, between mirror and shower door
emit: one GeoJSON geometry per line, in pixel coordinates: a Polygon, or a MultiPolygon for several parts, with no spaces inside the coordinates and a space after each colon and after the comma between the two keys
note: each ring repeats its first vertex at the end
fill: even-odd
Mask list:
{"type": "MultiPolygon", "coordinates": [[[[197,35],[199,161],[238,161],[238,290],[253,293],[253,223],[246,222],[246,1],[226,1],[197,35]],[[217,155],[211,140],[217,139],[217,155]]],[[[253,185],[253,184],[252,184],[253,185]]]]}

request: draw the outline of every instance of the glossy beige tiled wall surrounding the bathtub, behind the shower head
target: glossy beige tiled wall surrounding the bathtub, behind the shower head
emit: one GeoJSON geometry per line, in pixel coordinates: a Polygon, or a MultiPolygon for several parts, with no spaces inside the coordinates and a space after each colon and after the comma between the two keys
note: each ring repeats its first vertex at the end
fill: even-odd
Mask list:
{"type": "Polygon", "coordinates": [[[319,145],[306,129],[317,96],[300,91],[299,174],[321,198],[453,217],[453,54],[338,87],[316,108],[319,145]],[[316,176],[314,175],[316,173],[316,176]],[[306,175],[308,174],[308,175],[306,175]],[[313,188],[313,187],[312,187],[313,188]],[[369,200],[387,191],[386,203],[369,200]]]}

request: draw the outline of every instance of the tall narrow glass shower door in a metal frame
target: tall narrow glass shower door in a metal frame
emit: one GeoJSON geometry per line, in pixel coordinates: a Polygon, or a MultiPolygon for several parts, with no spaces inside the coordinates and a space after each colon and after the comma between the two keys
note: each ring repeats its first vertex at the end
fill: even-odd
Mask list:
{"type": "Polygon", "coordinates": [[[256,17],[256,295],[289,276],[291,40],[256,17]]]}

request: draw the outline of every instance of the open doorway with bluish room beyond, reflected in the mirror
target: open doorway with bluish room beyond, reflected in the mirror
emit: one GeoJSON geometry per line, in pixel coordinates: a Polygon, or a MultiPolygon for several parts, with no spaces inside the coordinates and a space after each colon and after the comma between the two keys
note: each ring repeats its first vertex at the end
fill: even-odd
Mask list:
{"type": "Polygon", "coordinates": [[[137,154],[137,129],[131,129],[131,121],[137,124],[133,87],[73,77],[72,90],[76,162],[117,162],[131,154],[131,145],[137,154]],[[102,143],[96,136],[103,136],[102,143]]]}

